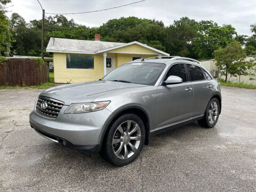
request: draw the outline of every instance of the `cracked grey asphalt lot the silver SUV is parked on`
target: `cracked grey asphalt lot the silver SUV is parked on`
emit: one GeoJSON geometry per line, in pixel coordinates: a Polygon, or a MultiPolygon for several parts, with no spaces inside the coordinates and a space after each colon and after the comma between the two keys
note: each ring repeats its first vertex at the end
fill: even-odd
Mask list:
{"type": "Polygon", "coordinates": [[[129,165],[59,146],[29,125],[42,90],[0,90],[0,191],[256,191],[256,90],[222,87],[213,129],[152,137],[129,165]]]}

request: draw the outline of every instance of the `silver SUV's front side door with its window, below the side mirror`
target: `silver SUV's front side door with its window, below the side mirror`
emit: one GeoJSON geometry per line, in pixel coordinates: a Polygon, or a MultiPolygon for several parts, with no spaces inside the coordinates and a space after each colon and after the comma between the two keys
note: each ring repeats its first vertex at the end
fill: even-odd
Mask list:
{"type": "Polygon", "coordinates": [[[170,75],[182,78],[182,83],[158,86],[157,90],[157,128],[181,122],[190,118],[193,101],[193,90],[188,82],[183,63],[171,66],[164,81],[170,75]]]}

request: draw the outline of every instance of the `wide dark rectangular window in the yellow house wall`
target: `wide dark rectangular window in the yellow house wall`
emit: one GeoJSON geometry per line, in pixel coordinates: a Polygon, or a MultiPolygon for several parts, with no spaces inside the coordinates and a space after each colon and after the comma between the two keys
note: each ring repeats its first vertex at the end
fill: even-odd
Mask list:
{"type": "Polygon", "coordinates": [[[67,54],[66,55],[67,68],[73,69],[93,69],[94,68],[94,59],[93,55],[75,55],[67,54]]]}

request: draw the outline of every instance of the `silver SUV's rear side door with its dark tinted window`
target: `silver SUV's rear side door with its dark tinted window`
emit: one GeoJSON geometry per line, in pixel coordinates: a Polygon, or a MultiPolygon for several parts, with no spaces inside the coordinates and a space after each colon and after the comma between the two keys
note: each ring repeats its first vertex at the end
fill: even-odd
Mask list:
{"type": "MultiPolygon", "coordinates": [[[[211,99],[214,89],[212,86],[212,78],[204,74],[204,70],[193,64],[186,64],[189,71],[189,81],[193,86],[194,98],[191,117],[204,115],[208,102],[211,99]]],[[[207,72],[205,71],[207,74],[207,72]]]]}

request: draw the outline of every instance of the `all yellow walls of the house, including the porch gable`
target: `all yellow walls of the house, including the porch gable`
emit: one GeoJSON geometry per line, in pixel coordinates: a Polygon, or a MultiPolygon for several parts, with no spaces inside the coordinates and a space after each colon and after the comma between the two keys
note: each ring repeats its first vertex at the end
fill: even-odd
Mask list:
{"type": "MultiPolygon", "coordinates": [[[[53,53],[54,81],[56,83],[89,82],[103,77],[103,53],[93,55],[94,69],[67,69],[66,54],[67,53],[53,53]]],[[[107,57],[112,56],[114,59],[113,69],[126,62],[132,61],[133,56],[146,58],[155,57],[157,55],[157,52],[136,44],[107,52],[107,57]]]]}

